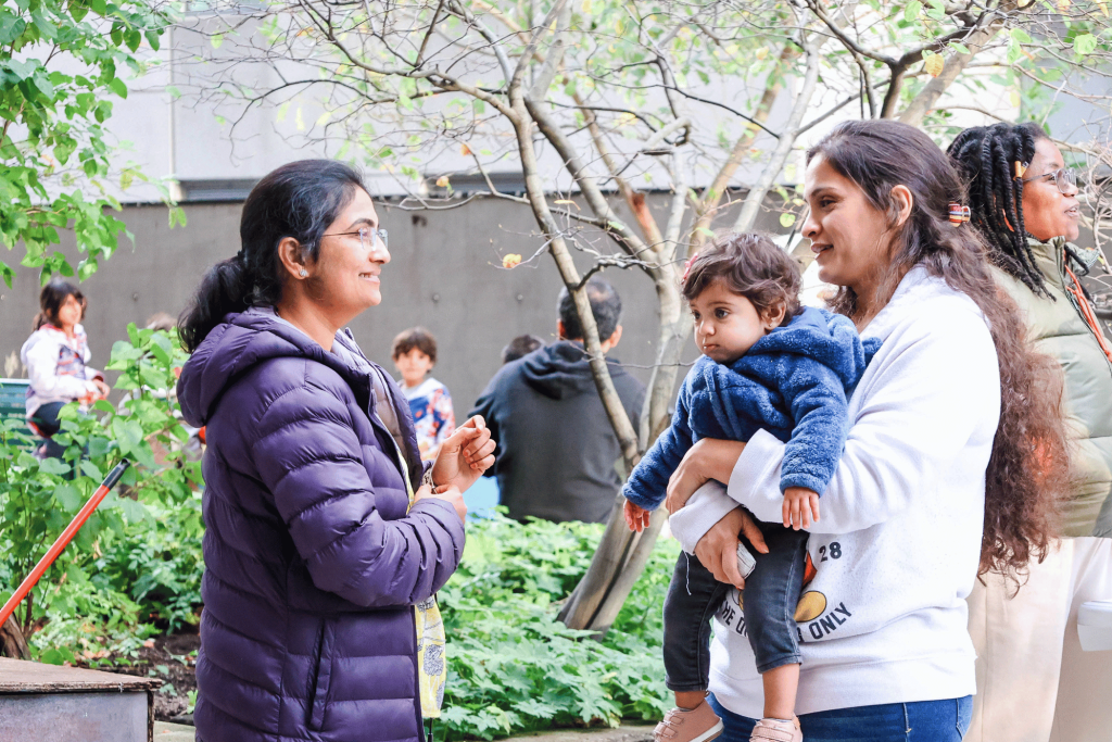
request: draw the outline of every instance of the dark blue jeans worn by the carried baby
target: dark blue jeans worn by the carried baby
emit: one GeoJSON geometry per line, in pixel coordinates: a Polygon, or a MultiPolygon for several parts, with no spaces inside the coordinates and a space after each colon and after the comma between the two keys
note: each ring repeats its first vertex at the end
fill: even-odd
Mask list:
{"type": "MultiPolygon", "coordinates": [[[[767,554],[745,542],[756,568],[745,580],[745,632],[757,672],[798,664],[795,606],[803,588],[807,532],[761,523],[767,554]]],[[[664,673],[672,691],[705,691],[711,671],[711,617],[731,587],[714,578],[695,557],[681,554],[664,598],[664,673]]]]}

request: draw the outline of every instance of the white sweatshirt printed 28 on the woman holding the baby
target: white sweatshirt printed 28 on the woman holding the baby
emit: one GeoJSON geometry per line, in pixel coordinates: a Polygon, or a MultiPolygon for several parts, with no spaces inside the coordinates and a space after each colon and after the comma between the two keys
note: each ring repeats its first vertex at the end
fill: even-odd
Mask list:
{"type": "MultiPolygon", "coordinates": [[[[863,336],[883,345],[850,399],[845,452],[807,541],[817,575],[795,616],[796,713],[975,692],[965,596],[1000,418],[995,346],[976,305],[923,268],[904,277],[863,336]]],[[[780,522],[783,455],[783,443],[758,432],[726,489],[707,485],[673,516],[684,548],[738,503],[780,522]]],[[[761,676],[743,627],[732,591],[714,624],[711,690],[759,719],[761,676]]]]}

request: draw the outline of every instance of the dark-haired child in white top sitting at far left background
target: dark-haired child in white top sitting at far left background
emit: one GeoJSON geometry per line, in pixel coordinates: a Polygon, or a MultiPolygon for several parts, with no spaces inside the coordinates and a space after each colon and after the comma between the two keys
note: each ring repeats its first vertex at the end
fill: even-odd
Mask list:
{"type": "Polygon", "coordinates": [[[20,350],[31,386],[27,392],[27,419],[47,438],[43,454],[61,457],[64,448],[51,439],[60,425],[58,412],[78,400],[91,404],[108,396],[105,375],[86,366],[89,342],[81,327],[86,299],[81,290],[63,280],[52,280],[39,294],[41,311],[34,332],[20,350]]]}

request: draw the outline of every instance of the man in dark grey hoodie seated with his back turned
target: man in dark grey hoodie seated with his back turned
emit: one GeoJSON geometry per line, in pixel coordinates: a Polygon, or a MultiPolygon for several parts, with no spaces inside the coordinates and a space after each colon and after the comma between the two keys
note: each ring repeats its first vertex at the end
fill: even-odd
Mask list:
{"type": "MultiPolygon", "coordinates": [[[[587,284],[587,297],[606,353],[622,338],[622,299],[600,278],[587,284]]],[[[560,339],[503,366],[470,414],[483,415],[498,441],[487,476],[497,476],[510,517],[602,523],[622,487],[615,469],[622,449],[598,398],[567,289],[558,307],[560,339]]],[[[645,387],[618,362],[607,363],[636,428],[645,387]]]]}

